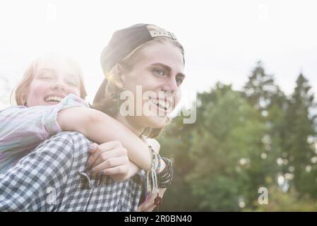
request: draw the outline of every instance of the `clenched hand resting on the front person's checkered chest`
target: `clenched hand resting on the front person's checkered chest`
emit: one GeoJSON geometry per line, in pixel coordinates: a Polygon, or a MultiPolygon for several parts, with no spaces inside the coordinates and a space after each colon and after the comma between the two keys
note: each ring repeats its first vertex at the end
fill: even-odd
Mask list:
{"type": "Polygon", "coordinates": [[[92,144],[87,165],[90,165],[90,174],[102,173],[109,175],[116,182],[121,182],[128,175],[128,153],[119,141],[110,141],[97,145],[92,144]]]}

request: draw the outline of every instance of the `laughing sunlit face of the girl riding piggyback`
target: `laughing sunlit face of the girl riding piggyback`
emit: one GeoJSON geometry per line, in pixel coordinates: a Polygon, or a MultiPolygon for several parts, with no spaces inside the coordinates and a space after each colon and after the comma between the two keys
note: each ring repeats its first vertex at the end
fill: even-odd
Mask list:
{"type": "Polygon", "coordinates": [[[25,90],[27,106],[56,105],[70,93],[80,95],[78,70],[59,57],[42,57],[25,90]]]}

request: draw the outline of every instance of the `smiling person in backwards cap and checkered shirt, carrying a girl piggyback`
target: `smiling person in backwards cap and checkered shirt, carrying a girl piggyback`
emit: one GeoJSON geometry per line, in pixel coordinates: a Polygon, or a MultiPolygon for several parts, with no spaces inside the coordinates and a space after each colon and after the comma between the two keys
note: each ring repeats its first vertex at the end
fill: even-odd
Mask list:
{"type": "MultiPolygon", "coordinates": [[[[171,33],[155,26],[135,25],[119,30],[102,53],[102,67],[109,83],[107,80],[102,83],[95,97],[95,108],[120,121],[137,136],[157,136],[168,122],[184,79],[184,52],[179,42],[171,33]],[[142,107],[150,101],[151,111],[160,114],[120,114],[118,94],[126,90],[136,95],[137,85],[141,85],[143,93],[154,93],[143,100],[142,107]],[[165,93],[163,97],[155,95],[160,91],[165,93]]],[[[67,120],[60,122],[61,127],[76,114],[69,112],[64,115],[67,120]]],[[[105,153],[100,148],[89,157],[89,147],[90,141],[81,133],[58,133],[6,172],[0,183],[1,196],[11,201],[11,210],[150,211],[159,204],[157,201],[172,179],[169,160],[152,152],[152,170],[147,172],[147,179],[143,170],[131,164],[129,170],[135,175],[124,182],[114,182],[109,177],[94,175],[91,170],[90,174],[86,172],[85,163],[101,165],[100,155],[105,153]],[[150,183],[149,172],[154,178],[150,183]],[[85,186],[87,181],[92,186],[85,186]],[[147,186],[143,186],[144,182],[148,182],[147,186]],[[12,192],[17,187],[20,202],[12,192]],[[140,201],[142,191],[147,191],[145,201],[140,201]]]]}

